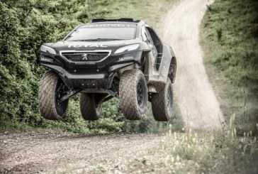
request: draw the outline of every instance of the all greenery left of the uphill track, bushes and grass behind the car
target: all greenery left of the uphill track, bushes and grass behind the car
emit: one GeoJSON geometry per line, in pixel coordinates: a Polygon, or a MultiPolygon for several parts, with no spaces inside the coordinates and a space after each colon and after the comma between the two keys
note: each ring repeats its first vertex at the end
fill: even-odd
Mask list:
{"type": "Polygon", "coordinates": [[[122,0],[3,0],[0,1],[0,129],[62,129],[73,132],[159,131],[149,114],[145,121],[125,121],[118,100],[103,106],[103,119],[84,121],[78,97],[69,102],[67,119],[46,121],[38,112],[38,82],[45,70],[35,64],[42,43],[62,39],[79,23],[91,18],[132,17],[160,28],[173,1],[122,0]]]}

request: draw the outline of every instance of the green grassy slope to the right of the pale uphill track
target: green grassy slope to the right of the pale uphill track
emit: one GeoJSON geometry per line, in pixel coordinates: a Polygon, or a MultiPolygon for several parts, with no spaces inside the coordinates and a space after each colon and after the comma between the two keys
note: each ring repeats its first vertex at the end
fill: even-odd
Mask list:
{"type": "Polygon", "coordinates": [[[237,134],[257,133],[258,1],[216,0],[201,26],[208,76],[225,119],[237,134]]]}

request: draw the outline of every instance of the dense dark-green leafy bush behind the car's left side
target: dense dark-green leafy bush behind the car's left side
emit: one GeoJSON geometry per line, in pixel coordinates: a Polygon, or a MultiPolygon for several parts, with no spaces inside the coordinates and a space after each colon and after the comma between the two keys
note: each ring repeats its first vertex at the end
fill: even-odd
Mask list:
{"type": "MultiPolygon", "coordinates": [[[[101,10],[108,3],[106,0],[91,2],[91,13],[96,16],[108,13],[101,10]]],[[[35,64],[42,43],[60,40],[74,26],[89,21],[88,8],[89,4],[84,0],[0,2],[0,126],[9,122],[89,131],[89,124],[80,119],[79,106],[74,101],[70,103],[67,122],[42,119],[38,114],[38,81],[44,70],[35,64]]],[[[113,117],[101,125],[105,130],[117,131],[113,128],[118,126],[120,129],[113,119],[117,111],[111,109],[104,109],[106,117],[113,117]]]]}

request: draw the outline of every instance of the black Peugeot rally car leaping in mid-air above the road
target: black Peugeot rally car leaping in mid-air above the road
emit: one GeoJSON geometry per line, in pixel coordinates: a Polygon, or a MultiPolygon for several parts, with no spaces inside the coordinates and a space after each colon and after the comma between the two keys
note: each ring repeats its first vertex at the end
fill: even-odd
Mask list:
{"type": "Polygon", "coordinates": [[[41,45],[38,62],[49,70],[38,94],[45,119],[64,118],[69,97],[78,92],[86,120],[99,119],[102,103],[112,97],[126,119],[145,116],[148,100],[157,121],[172,115],[176,57],[144,21],[94,19],[41,45]]]}

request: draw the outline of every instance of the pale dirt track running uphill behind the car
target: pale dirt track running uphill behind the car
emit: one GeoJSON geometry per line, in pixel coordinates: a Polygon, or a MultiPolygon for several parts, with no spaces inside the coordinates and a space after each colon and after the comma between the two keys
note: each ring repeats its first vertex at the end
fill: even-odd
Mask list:
{"type": "Polygon", "coordinates": [[[201,19],[211,0],[181,1],[165,20],[164,40],[172,45],[178,71],[175,84],[176,103],[187,128],[221,129],[223,114],[203,65],[199,45],[201,19]]]}

